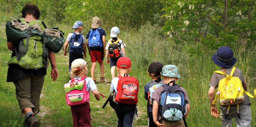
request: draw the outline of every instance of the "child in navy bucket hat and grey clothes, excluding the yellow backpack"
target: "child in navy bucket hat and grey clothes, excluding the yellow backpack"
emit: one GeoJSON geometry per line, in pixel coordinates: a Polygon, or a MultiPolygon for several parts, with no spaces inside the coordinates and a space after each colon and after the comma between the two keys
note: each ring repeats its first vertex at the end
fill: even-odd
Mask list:
{"type": "MultiPolygon", "coordinates": [[[[224,72],[227,75],[231,74],[231,71],[233,69],[233,65],[236,62],[236,58],[234,57],[234,53],[231,48],[222,46],[220,47],[216,54],[212,56],[212,61],[221,67],[218,71],[224,72]]],[[[215,104],[212,104],[212,101],[214,100],[214,91],[219,85],[219,81],[223,78],[225,78],[226,75],[219,74],[219,73],[213,73],[212,78],[209,83],[209,101],[211,105],[211,115],[214,117],[220,117],[222,126],[223,127],[231,127],[232,126],[232,119],[235,118],[235,123],[237,127],[250,127],[251,120],[251,109],[250,109],[250,100],[249,97],[244,94],[244,101],[239,104],[239,115],[237,115],[237,105],[230,105],[229,113],[227,113],[227,107],[221,105],[221,114],[219,114],[218,109],[216,108],[215,104]],[[221,116],[222,117],[221,117],[221,116]],[[227,115],[227,118],[225,116],[227,115]]],[[[243,77],[242,71],[238,68],[235,68],[233,77],[239,77],[239,79],[242,82],[243,88],[245,91],[247,91],[247,84],[243,77]]]]}

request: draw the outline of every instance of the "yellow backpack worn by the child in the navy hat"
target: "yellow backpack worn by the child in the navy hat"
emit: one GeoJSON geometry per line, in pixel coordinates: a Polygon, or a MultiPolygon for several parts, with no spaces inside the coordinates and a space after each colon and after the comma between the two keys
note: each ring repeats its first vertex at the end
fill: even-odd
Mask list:
{"type": "Polygon", "coordinates": [[[249,97],[253,98],[256,97],[256,89],[254,89],[254,96],[250,93],[246,92],[243,89],[243,85],[239,77],[233,77],[233,73],[235,71],[235,67],[233,67],[230,75],[227,75],[221,71],[215,71],[214,73],[219,73],[226,75],[227,77],[223,78],[219,82],[218,92],[216,93],[215,100],[212,101],[212,104],[216,104],[217,98],[220,100],[220,104],[227,107],[227,115],[228,116],[230,105],[237,105],[237,116],[240,118],[239,115],[239,104],[244,101],[244,93],[246,93],[249,97]]]}

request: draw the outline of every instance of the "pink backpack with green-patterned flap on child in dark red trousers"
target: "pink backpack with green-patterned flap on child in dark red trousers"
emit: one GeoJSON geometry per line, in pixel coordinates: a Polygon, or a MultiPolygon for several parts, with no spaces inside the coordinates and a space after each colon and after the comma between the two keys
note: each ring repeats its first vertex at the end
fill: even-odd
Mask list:
{"type": "Polygon", "coordinates": [[[89,91],[86,90],[86,77],[83,76],[81,80],[73,78],[70,83],[64,84],[67,105],[74,106],[89,102],[90,95],[89,91]]]}

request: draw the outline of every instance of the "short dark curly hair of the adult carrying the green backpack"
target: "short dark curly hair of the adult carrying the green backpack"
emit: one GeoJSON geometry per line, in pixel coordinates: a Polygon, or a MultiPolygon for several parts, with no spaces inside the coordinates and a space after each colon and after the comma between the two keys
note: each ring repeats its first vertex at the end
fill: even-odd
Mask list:
{"type": "Polygon", "coordinates": [[[40,10],[36,5],[33,5],[33,4],[26,4],[22,9],[21,14],[22,14],[21,16],[22,18],[25,18],[27,14],[33,15],[37,19],[40,18],[40,10]]]}

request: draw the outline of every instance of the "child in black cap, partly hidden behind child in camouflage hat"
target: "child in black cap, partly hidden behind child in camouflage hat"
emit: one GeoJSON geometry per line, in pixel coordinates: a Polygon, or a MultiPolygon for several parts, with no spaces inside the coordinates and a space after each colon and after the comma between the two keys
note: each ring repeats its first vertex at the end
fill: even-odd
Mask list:
{"type": "Polygon", "coordinates": [[[161,80],[161,74],[163,65],[157,61],[152,62],[148,67],[148,75],[151,76],[152,81],[144,86],[144,98],[147,100],[147,119],[148,127],[157,127],[153,120],[152,114],[152,93],[159,87],[162,86],[163,80],[161,80]]]}

